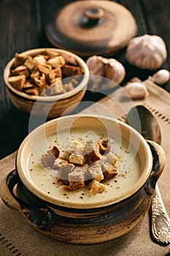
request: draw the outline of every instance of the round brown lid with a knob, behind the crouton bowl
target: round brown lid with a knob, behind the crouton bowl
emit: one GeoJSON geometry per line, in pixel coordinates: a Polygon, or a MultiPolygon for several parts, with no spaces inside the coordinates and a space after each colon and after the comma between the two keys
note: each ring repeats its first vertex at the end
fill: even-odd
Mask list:
{"type": "Polygon", "coordinates": [[[136,30],[131,12],[116,2],[74,1],[58,12],[47,37],[80,56],[109,55],[125,47],[136,30]]]}

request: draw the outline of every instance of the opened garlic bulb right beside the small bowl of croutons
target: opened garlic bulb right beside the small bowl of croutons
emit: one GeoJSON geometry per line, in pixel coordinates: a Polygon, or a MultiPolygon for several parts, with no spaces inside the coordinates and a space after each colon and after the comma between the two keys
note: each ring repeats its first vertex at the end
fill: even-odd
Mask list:
{"type": "Polygon", "coordinates": [[[113,86],[121,83],[125,78],[125,68],[116,59],[107,59],[102,56],[91,56],[87,59],[86,64],[90,70],[90,75],[97,75],[102,78],[112,80],[114,83],[109,83],[102,78],[90,78],[93,80],[90,89],[100,89],[101,91],[111,89],[113,86]],[[102,84],[101,84],[102,80],[102,84]],[[103,83],[104,82],[104,83],[103,83]],[[100,87],[100,88],[99,88],[100,87]]]}

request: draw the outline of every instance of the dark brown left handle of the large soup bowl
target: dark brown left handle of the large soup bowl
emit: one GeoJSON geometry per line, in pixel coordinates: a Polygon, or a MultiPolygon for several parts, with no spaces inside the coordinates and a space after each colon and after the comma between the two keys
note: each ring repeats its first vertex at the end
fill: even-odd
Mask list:
{"type": "Polygon", "coordinates": [[[50,208],[47,208],[47,206],[43,204],[37,203],[31,205],[21,200],[14,192],[15,185],[19,182],[21,182],[20,177],[17,171],[13,170],[1,182],[1,199],[9,208],[12,208],[26,217],[27,221],[36,229],[49,230],[55,223],[56,215],[50,208]]]}

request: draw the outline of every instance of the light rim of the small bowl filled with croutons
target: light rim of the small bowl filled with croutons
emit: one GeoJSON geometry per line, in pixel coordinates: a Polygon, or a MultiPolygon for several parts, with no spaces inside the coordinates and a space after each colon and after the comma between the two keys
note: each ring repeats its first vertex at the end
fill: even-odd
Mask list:
{"type": "Polygon", "coordinates": [[[4,82],[5,82],[5,85],[7,86],[7,89],[9,89],[14,94],[17,94],[19,97],[22,97],[24,99],[29,99],[31,101],[38,100],[40,102],[55,102],[59,99],[66,99],[68,97],[72,97],[72,95],[74,95],[74,94],[77,94],[78,91],[85,89],[85,86],[88,84],[90,71],[89,71],[88,65],[85,63],[85,61],[83,59],[81,59],[80,56],[77,56],[75,53],[72,53],[69,50],[63,50],[61,48],[33,48],[31,50],[23,51],[20,54],[23,55],[23,56],[25,56],[25,55],[34,55],[36,53],[41,53],[41,52],[43,52],[43,50],[46,50],[46,49],[47,50],[52,50],[54,52],[66,53],[70,56],[73,56],[77,60],[80,67],[82,67],[82,69],[84,69],[84,72],[85,72],[85,74],[82,75],[83,78],[82,78],[81,82],[79,83],[79,85],[76,88],[74,88],[73,90],[66,92],[65,94],[58,94],[58,95],[54,95],[54,96],[34,96],[34,95],[26,94],[23,91],[19,91],[19,90],[15,89],[8,82],[9,71],[10,71],[10,68],[11,68],[14,60],[15,60],[15,57],[13,57],[7,63],[7,65],[4,67],[4,82]]]}

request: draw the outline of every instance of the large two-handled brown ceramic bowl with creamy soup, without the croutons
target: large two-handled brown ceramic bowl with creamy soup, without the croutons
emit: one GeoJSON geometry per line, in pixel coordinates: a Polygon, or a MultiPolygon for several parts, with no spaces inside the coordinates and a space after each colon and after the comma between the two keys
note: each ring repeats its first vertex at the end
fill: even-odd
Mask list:
{"type": "Polygon", "coordinates": [[[97,244],[123,236],[143,219],[164,162],[161,146],[117,119],[65,116],[42,124],[23,140],[16,170],[2,181],[1,198],[48,236],[97,244]],[[68,191],[58,184],[57,172],[42,165],[42,154],[49,148],[57,145],[64,155],[72,140],[109,140],[117,175],[101,181],[103,192],[93,193],[88,187],[68,191]]]}

